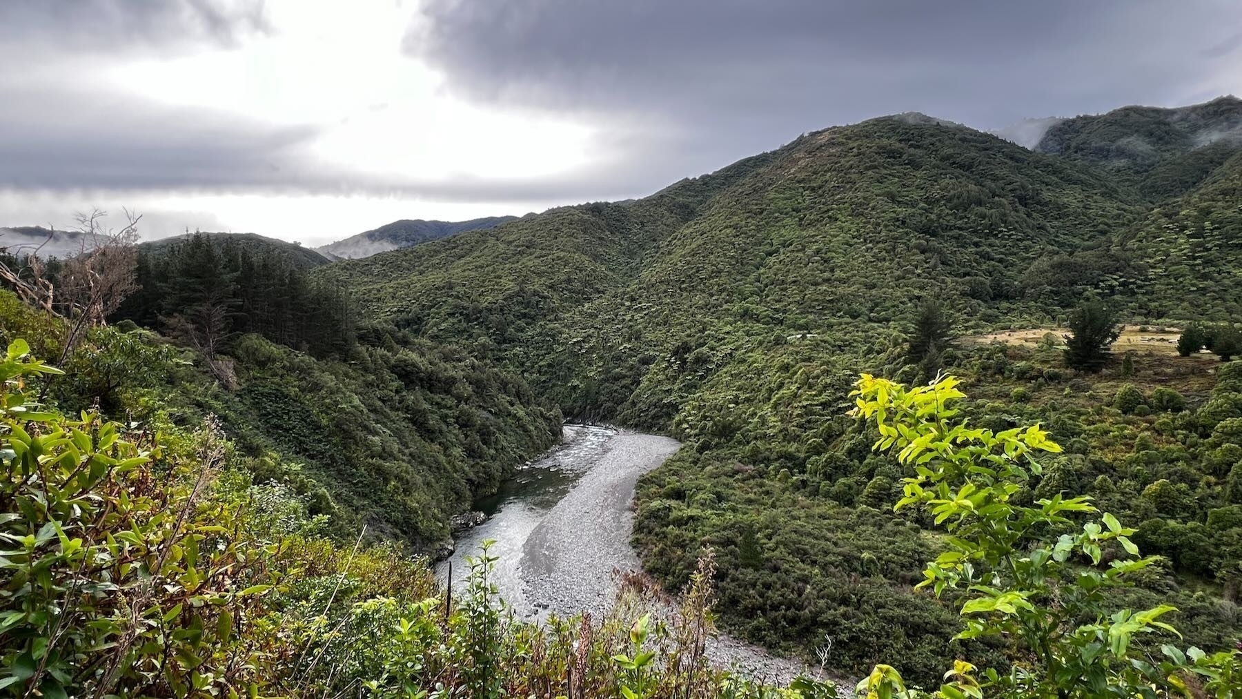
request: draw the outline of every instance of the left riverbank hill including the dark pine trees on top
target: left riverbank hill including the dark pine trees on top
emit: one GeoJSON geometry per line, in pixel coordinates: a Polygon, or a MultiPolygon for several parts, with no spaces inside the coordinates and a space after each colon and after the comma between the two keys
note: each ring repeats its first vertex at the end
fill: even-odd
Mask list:
{"type": "MultiPolygon", "coordinates": [[[[156,335],[111,328],[88,338],[71,369],[84,372],[92,354],[118,368],[97,396],[117,413],[166,411],[183,425],[219,416],[257,478],[291,483],[338,533],[365,524],[431,550],[451,515],[555,441],[560,415],[460,348],[359,322],[339,289],[308,277],[298,252],[317,256],[207,233],[139,246],[138,288],[112,319],[189,348],[197,370],[178,368],[156,335]],[[152,394],[163,397],[150,404],[152,394]]],[[[16,333],[30,336],[10,328],[0,339],[16,333]]]]}

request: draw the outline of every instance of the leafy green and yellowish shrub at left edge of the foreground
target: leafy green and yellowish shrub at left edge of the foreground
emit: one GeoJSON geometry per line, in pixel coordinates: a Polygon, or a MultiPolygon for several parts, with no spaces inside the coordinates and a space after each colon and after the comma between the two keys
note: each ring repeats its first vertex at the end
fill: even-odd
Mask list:
{"type": "Polygon", "coordinates": [[[200,435],[190,461],[98,413],[43,410],[24,382],[57,371],[27,353],[17,340],[0,361],[0,687],[209,697],[256,682],[266,657],[246,629],[277,546],[210,498],[220,437],[200,435]]]}

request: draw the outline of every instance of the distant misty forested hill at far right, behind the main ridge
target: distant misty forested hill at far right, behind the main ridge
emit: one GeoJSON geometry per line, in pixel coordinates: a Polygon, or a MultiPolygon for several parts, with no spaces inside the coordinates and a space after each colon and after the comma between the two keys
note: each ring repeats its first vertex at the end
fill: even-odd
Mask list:
{"type": "Polygon", "coordinates": [[[1242,99],[1165,109],[1123,107],[1064,119],[1035,147],[1100,165],[1160,201],[1190,191],[1242,149],[1242,99]]]}

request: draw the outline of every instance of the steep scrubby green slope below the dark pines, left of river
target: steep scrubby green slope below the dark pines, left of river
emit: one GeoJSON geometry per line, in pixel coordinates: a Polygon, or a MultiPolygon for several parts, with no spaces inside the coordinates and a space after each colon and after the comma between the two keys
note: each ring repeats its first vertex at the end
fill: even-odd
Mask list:
{"type": "MultiPolygon", "coordinates": [[[[0,343],[60,356],[61,322],[0,289],[0,343]]],[[[340,356],[315,359],[257,334],[235,338],[233,386],[202,355],[155,333],[99,328],[48,391],[70,413],[99,405],[127,422],[193,432],[219,418],[256,483],[289,488],[351,539],[365,524],[430,552],[452,515],[550,447],[560,415],[518,377],[460,349],[383,325],[340,356]]]]}

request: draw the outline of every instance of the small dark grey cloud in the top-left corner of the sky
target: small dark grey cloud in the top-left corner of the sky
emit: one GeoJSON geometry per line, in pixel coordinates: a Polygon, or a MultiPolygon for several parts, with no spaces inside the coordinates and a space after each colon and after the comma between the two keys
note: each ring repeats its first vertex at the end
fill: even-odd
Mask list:
{"type": "Polygon", "coordinates": [[[0,41],[55,51],[232,45],[267,31],[262,0],[4,0],[0,41]]]}

